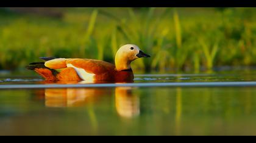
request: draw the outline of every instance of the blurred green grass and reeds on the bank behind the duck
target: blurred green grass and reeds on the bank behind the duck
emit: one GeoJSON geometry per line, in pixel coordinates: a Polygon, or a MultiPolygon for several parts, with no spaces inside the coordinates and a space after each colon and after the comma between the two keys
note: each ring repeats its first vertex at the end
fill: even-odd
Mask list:
{"type": "Polygon", "coordinates": [[[114,62],[121,45],[152,58],[137,71],[256,65],[256,8],[1,8],[0,69],[42,56],[114,62]]]}

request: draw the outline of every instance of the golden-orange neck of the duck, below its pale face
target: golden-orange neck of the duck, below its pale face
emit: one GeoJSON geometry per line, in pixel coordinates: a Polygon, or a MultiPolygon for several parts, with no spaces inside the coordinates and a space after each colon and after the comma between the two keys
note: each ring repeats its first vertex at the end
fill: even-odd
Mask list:
{"type": "Polygon", "coordinates": [[[131,70],[130,61],[125,57],[116,56],[115,65],[117,71],[131,70]]]}

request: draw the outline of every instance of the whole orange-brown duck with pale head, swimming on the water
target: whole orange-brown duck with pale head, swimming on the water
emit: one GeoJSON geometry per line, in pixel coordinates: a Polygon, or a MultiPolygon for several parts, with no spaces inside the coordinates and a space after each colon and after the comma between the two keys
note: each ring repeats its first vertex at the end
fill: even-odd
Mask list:
{"type": "Polygon", "coordinates": [[[45,81],[128,82],[134,75],[131,62],[138,58],[149,58],[135,44],[121,46],[115,55],[115,64],[98,59],[49,58],[44,62],[33,62],[27,69],[34,70],[45,81]]]}

